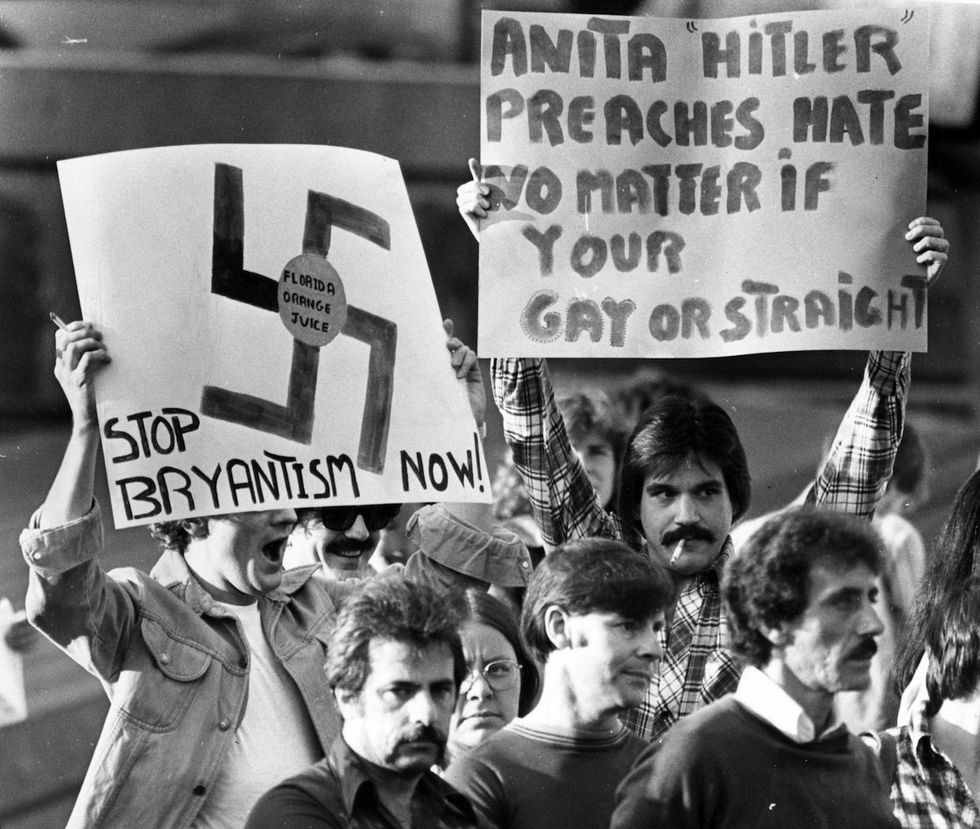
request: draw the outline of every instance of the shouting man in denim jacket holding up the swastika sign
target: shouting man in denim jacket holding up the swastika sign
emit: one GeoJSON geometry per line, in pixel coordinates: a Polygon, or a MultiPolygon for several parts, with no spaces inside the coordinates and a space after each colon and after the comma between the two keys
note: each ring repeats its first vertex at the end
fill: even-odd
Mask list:
{"type": "Polygon", "coordinates": [[[340,733],[323,663],[356,582],[283,571],[291,508],[156,525],[166,549],[149,575],[104,572],[92,384],[109,356],[90,323],[56,338],[72,433],[21,536],[26,604],[112,703],[69,826],[241,827],[340,733]]]}

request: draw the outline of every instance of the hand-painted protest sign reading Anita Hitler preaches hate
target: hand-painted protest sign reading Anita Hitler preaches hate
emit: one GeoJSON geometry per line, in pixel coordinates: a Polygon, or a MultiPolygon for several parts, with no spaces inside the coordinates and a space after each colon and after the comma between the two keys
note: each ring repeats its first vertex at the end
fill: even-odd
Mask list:
{"type": "Polygon", "coordinates": [[[928,15],[483,14],[483,356],[926,348],[928,15]]]}

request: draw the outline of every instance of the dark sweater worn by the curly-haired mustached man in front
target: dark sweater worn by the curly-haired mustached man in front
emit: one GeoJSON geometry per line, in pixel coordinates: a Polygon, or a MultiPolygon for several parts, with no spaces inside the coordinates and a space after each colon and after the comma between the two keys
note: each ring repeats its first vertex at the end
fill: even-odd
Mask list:
{"type": "Polygon", "coordinates": [[[610,829],[894,829],[878,759],[844,728],[795,742],[726,697],[637,759],[610,829]]]}

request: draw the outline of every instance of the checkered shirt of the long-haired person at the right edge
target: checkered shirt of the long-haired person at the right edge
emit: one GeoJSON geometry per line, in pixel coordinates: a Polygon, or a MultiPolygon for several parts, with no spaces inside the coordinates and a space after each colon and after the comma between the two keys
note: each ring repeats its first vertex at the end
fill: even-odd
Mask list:
{"type": "Polygon", "coordinates": [[[891,729],[898,765],[892,781],[895,816],[906,829],[980,826],[980,809],[959,769],[932,741],[925,704],[910,723],[891,729]]]}

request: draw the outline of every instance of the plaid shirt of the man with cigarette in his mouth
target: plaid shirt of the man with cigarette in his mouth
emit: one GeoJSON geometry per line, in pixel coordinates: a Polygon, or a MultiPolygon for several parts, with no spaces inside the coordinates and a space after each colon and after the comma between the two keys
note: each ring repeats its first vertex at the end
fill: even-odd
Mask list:
{"type": "MultiPolygon", "coordinates": [[[[830,455],[808,496],[838,512],[870,518],[891,477],[901,440],[911,356],[872,352],[864,382],[841,421],[830,455]]],[[[545,362],[507,358],[491,362],[493,395],[545,547],[600,536],[641,550],[645,540],[607,512],[572,450],[545,362]]],[[[732,555],[726,539],[715,564],[678,597],[661,645],[664,659],[627,724],[652,740],[679,718],[720,699],[738,684],[740,668],[728,651],[719,576],[732,555]]]]}

